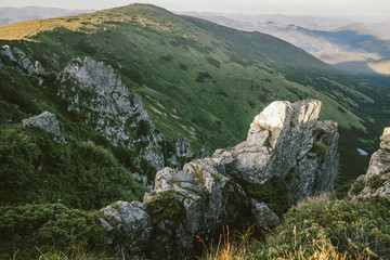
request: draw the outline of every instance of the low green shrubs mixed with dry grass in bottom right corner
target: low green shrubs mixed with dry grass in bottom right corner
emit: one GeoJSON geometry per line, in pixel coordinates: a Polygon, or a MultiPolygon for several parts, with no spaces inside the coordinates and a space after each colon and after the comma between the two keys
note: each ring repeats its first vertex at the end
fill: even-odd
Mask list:
{"type": "Polygon", "coordinates": [[[353,204],[329,197],[309,199],[285,214],[285,223],[274,231],[261,256],[274,258],[306,248],[302,257],[309,258],[320,240],[329,240],[339,253],[351,259],[389,259],[389,223],[387,200],[353,204]]]}

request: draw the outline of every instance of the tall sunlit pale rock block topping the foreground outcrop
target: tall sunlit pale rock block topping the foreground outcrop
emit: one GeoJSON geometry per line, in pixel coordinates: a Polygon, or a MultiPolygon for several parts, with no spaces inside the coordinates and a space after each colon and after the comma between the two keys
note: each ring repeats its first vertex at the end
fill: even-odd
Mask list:
{"type": "Polygon", "coordinates": [[[317,121],[320,109],[314,100],[273,102],[255,117],[246,141],[212,158],[242,182],[286,180],[291,203],[328,192],[338,170],[338,132],[336,122],[317,121]]]}

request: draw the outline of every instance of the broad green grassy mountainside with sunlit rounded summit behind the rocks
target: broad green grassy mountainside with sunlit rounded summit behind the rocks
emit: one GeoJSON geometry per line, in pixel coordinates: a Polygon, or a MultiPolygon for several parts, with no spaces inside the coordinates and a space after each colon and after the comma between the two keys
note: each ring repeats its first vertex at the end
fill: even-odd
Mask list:
{"type": "Polygon", "coordinates": [[[166,139],[182,134],[208,150],[246,136],[253,116],[274,100],[317,99],[322,119],[341,127],[341,167],[364,172],[388,114],[389,91],[340,73],[282,40],[166,10],[132,4],[86,15],[0,27],[2,44],[20,46],[47,69],[70,58],[106,61],[143,96],[166,139]],[[20,41],[15,41],[20,40],[20,41]]]}

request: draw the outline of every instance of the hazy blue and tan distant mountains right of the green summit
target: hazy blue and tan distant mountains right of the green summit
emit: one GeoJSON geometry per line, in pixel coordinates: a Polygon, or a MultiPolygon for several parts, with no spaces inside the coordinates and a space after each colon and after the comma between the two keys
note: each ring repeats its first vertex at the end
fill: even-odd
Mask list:
{"type": "Polygon", "coordinates": [[[390,86],[390,21],[356,23],[347,18],[323,18],[286,15],[238,15],[187,13],[224,26],[270,34],[286,40],[317,58],[386,86],[390,86]],[[368,63],[370,65],[368,65],[368,63]]]}

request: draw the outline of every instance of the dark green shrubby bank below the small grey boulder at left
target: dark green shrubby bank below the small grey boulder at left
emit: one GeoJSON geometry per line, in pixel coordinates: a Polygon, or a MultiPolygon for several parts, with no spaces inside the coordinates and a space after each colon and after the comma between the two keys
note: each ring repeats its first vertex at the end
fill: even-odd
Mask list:
{"type": "Polygon", "coordinates": [[[72,138],[60,144],[38,128],[0,128],[0,205],[61,202],[99,209],[140,200],[146,191],[110,151],[72,138]]]}

